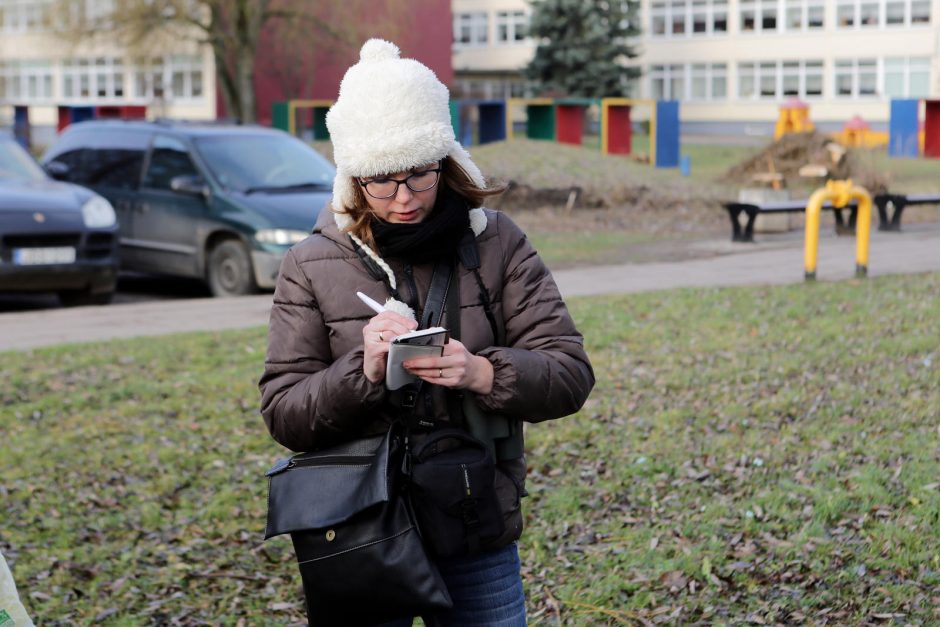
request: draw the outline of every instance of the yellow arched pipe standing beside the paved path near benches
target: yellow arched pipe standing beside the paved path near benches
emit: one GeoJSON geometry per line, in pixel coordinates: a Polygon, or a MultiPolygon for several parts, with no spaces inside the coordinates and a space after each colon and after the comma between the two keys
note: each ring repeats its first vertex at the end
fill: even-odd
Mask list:
{"type": "Polygon", "coordinates": [[[852,179],[845,181],[827,181],[825,187],[813,192],[806,203],[806,238],[804,245],[804,267],[806,280],[816,278],[816,260],[819,253],[819,217],[823,203],[827,200],[832,206],[841,209],[853,200],[858,201],[858,214],[855,219],[855,276],[868,274],[868,243],[871,239],[871,195],[863,187],[852,184],[852,179]]]}

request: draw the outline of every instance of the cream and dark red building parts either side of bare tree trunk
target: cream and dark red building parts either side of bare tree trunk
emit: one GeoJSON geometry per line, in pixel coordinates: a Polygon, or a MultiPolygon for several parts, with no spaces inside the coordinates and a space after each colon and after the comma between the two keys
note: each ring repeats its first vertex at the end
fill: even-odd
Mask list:
{"type": "MultiPolygon", "coordinates": [[[[107,15],[114,1],[72,6],[84,12],[78,18],[93,22],[107,15]]],[[[270,124],[276,101],[334,99],[368,37],[395,41],[403,56],[424,62],[446,84],[453,83],[451,32],[440,27],[450,23],[449,0],[400,2],[376,4],[367,17],[347,17],[345,43],[323,33],[288,32],[283,22],[265,25],[255,66],[258,121],[270,124]],[[406,2],[413,11],[393,10],[406,2]]],[[[76,16],[63,16],[62,6],[61,0],[0,0],[0,129],[13,125],[17,106],[28,107],[38,145],[54,139],[62,106],[145,106],[151,119],[214,120],[226,114],[212,50],[195,43],[198,37],[157,41],[143,58],[106,37],[70,43],[61,34],[61,20],[76,16]]],[[[323,10],[324,21],[339,24],[328,11],[344,7],[323,4],[323,10]]]]}

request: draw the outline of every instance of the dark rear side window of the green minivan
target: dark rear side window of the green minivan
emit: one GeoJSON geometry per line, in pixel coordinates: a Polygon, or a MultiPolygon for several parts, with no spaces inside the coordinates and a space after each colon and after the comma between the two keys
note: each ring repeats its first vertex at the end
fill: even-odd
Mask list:
{"type": "Polygon", "coordinates": [[[67,132],[44,161],[69,167],[63,180],[81,185],[135,189],[140,182],[148,135],[105,129],[67,132]]]}

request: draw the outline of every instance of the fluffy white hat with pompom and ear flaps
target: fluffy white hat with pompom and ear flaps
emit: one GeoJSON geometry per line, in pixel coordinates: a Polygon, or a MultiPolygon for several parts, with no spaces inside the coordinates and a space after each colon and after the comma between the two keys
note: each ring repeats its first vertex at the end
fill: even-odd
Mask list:
{"type": "Polygon", "coordinates": [[[346,209],[355,198],[356,177],[403,172],[446,156],[485,186],[454,137],[447,87],[427,66],[400,54],[391,42],[367,41],[326,114],[336,162],[333,210],[340,229],[352,222],[346,209]]]}

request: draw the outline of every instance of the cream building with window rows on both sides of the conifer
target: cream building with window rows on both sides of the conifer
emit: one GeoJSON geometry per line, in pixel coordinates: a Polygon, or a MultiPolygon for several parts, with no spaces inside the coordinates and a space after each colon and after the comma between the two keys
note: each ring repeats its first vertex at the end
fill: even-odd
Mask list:
{"type": "MultiPolygon", "coordinates": [[[[528,2],[452,8],[456,91],[526,92],[528,2]]],[[[794,97],[822,128],[885,128],[891,99],[940,98],[940,0],[642,0],[640,22],[634,93],[679,100],[685,132],[767,135],[794,97]]]]}

